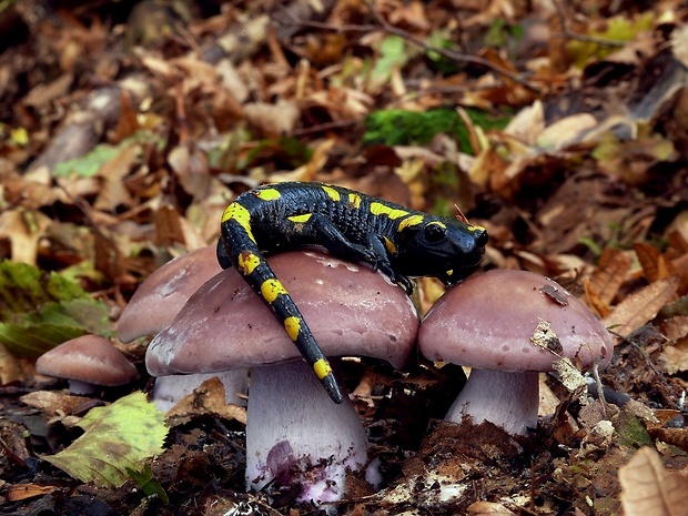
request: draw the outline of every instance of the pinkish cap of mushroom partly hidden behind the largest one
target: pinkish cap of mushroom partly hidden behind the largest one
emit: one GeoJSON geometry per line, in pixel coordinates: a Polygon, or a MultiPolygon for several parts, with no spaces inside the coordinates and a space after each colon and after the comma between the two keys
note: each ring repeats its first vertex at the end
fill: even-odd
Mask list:
{"type": "Polygon", "coordinates": [[[154,335],[170,324],[191,294],[222,271],[215,249],[210,245],[175,257],[148,276],[118,321],[120,341],[154,335]]]}

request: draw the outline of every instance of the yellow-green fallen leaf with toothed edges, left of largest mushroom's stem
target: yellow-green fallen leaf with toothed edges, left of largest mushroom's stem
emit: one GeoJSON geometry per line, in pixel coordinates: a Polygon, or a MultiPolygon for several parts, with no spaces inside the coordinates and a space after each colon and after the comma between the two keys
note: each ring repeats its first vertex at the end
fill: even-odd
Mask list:
{"type": "Polygon", "coordinates": [[[81,482],[120,487],[131,472],[142,472],[145,461],[162,453],[169,428],[164,414],[142,392],[107,407],[92,408],[79,423],[85,434],[45,461],[81,482]]]}

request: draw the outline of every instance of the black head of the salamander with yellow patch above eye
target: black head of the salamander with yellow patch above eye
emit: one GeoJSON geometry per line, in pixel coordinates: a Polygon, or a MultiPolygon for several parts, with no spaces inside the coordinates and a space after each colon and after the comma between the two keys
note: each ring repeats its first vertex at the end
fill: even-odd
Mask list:
{"type": "Polygon", "coordinates": [[[451,285],[478,266],[486,244],[485,227],[426,216],[422,223],[399,230],[394,269],[408,276],[435,276],[451,285]]]}

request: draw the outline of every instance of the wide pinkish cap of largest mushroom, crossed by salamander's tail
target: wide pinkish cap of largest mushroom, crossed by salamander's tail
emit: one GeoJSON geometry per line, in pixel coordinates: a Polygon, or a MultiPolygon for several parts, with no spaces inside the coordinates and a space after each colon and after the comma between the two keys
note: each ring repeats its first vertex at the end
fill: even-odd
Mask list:
{"type": "MultiPolygon", "coordinates": [[[[323,352],[401,367],[418,328],[404,291],[370,267],[318,251],[269,259],[323,352]]],[[[199,289],[148,347],[153,376],[274,364],[301,355],[265,303],[233,269],[199,289]]]]}

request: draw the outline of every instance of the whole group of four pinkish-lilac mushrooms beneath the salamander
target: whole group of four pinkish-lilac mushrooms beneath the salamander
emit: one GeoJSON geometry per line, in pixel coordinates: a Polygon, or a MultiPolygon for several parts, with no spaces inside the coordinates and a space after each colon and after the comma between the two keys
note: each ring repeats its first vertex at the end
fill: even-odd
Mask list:
{"type": "MultiPolygon", "coordinates": [[[[472,367],[447,421],[489,421],[525,435],[537,425],[539,372],[552,371],[560,360],[584,368],[605,366],[611,357],[613,341],[601,323],[560,285],[536,274],[490,271],[473,276],[448,289],[419,322],[405,292],[367,265],[316,250],[269,260],[340,381],[337,357],[368,356],[402,368],[416,342],[428,360],[472,367]]],[[[118,330],[123,342],[155,335],[145,365],[156,377],[154,395],[163,408],[210,376],[225,383],[227,403],[242,403],[237,394],[246,392],[251,371],[249,489],[285,488],[300,502],[336,502],[345,493],[348,472],[368,464],[366,431],[351,401],[331,402],[270,308],[235,270],[220,269],[214,247],[189,253],[152,274],[118,330]]],[[[82,337],[63,346],[75,364],[83,345],[102,346],[98,340],[82,337]]],[[[107,343],[104,354],[119,353],[100,341],[107,343]]],[[[57,353],[43,355],[39,371],[64,376],[50,368],[57,353]]],[[[122,367],[129,376],[117,382],[135,377],[135,368],[127,364],[122,367]]],[[[110,378],[114,366],[107,365],[105,372],[99,363],[92,365],[101,380],[115,382],[110,378]]]]}

